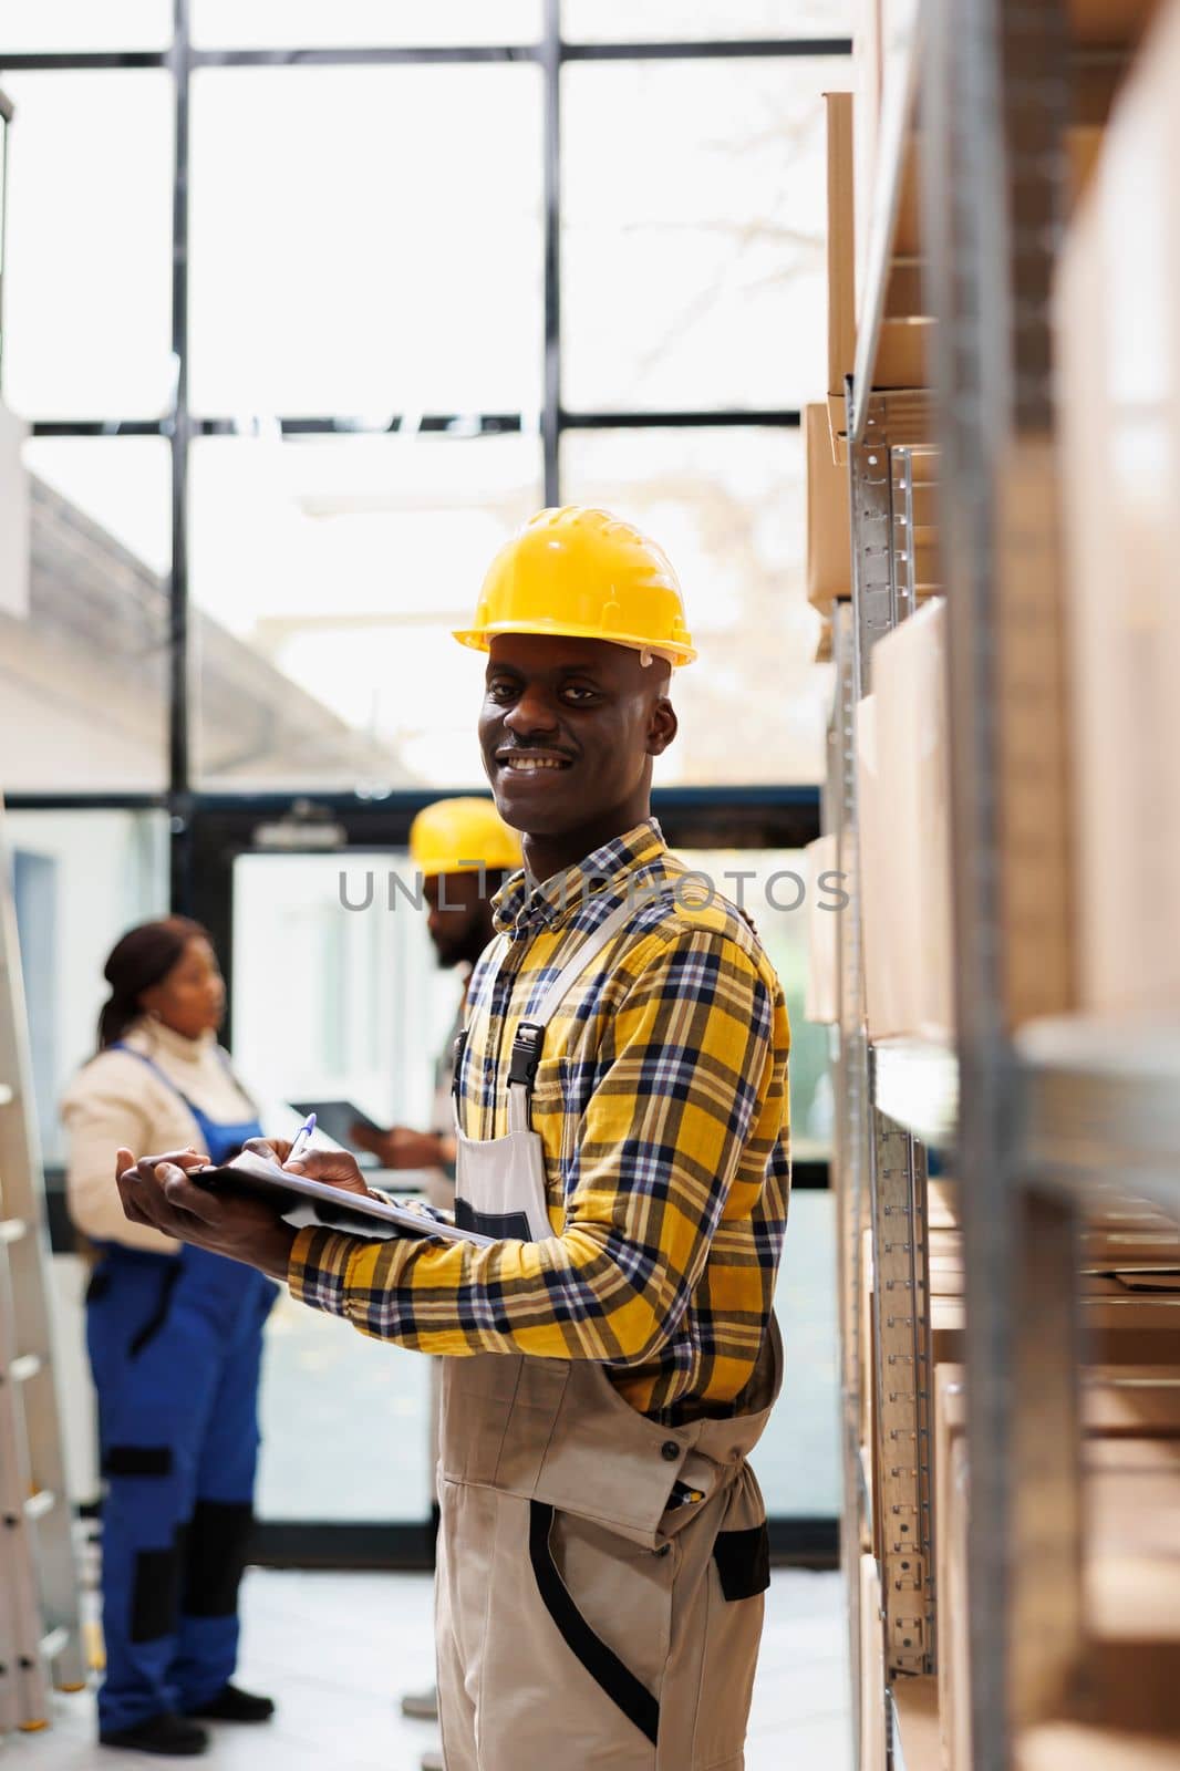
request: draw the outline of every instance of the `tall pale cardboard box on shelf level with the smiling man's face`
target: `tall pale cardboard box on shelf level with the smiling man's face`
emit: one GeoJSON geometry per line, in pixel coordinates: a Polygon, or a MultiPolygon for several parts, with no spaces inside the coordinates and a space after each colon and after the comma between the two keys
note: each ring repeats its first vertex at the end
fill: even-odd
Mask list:
{"type": "Polygon", "coordinates": [[[946,1040],[955,997],[941,602],[873,650],[873,694],[858,708],[858,785],[870,1038],[946,1040]]]}

